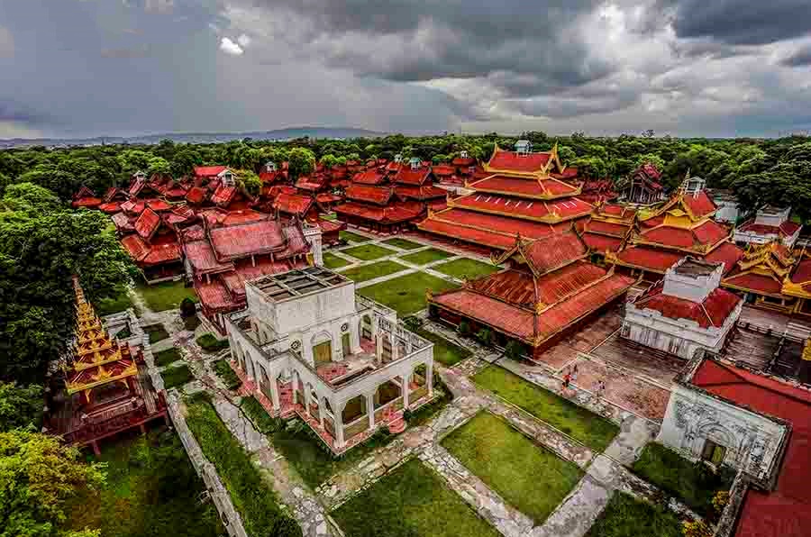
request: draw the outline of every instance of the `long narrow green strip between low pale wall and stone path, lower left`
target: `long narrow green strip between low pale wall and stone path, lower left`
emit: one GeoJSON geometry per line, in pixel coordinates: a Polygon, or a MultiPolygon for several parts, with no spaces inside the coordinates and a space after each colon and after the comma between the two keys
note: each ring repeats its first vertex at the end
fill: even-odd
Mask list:
{"type": "Polygon", "coordinates": [[[283,511],[278,496],[233,438],[211,403],[195,400],[187,405],[187,423],[208,460],[211,460],[250,535],[301,537],[301,528],[283,511]]]}

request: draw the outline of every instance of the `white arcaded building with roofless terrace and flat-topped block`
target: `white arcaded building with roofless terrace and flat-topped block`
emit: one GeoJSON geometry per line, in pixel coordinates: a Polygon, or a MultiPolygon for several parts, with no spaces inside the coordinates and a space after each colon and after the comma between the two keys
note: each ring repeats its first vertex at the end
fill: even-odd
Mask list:
{"type": "Polygon", "coordinates": [[[247,309],[225,316],[231,364],[272,416],[298,415],[341,454],[433,399],[433,343],[396,312],[307,267],[245,282],[247,309]]]}

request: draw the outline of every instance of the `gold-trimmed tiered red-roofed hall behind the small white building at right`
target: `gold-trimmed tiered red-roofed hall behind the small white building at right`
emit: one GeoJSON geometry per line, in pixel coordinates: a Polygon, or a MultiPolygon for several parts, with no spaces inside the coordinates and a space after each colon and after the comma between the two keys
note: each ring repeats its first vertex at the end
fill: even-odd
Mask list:
{"type": "Polygon", "coordinates": [[[689,255],[724,263],[726,274],[743,258],[743,250],[730,241],[730,231],[713,220],[716,209],[703,181],[686,181],[667,203],[637,212],[636,230],[621,250],[606,252],[606,262],[655,280],[689,255]]]}

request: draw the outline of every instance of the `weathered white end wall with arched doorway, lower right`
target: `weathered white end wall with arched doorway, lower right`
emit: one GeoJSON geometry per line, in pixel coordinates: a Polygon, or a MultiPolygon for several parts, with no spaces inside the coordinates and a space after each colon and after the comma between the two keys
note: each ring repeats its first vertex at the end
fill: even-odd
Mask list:
{"type": "Polygon", "coordinates": [[[692,460],[701,457],[707,440],[714,441],[726,448],[724,464],[763,479],[778,462],[787,434],[782,423],[676,384],[657,440],[692,460]]]}

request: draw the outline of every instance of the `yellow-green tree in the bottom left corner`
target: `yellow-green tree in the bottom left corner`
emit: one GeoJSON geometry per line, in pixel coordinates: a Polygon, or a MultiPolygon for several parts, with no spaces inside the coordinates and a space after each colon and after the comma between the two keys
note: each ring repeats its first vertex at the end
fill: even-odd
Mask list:
{"type": "Polygon", "coordinates": [[[88,537],[64,527],[68,502],[105,482],[104,464],[85,464],[76,448],[58,438],[14,429],[0,432],[0,535],[88,537]]]}

